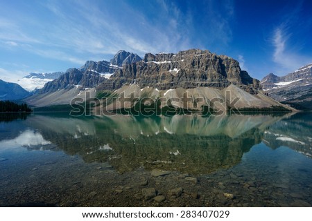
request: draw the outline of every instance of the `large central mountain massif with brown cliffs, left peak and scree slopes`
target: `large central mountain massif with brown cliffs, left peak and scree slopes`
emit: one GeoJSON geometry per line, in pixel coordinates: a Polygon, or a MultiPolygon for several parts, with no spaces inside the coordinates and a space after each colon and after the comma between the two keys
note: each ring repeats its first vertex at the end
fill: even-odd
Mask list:
{"type": "MultiPolygon", "coordinates": [[[[107,106],[116,110],[131,108],[137,99],[144,97],[171,99],[182,98],[188,93],[192,99],[202,98],[198,104],[188,107],[199,110],[210,105],[214,98],[227,102],[227,92],[230,92],[234,98],[241,97],[236,108],[288,108],[261,93],[260,88],[259,80],[241,70],[238,61],[208,50],[148,53],[144,59],[120,50],[110,62],[87,61],[81,68],[70,68],[58,79],[47,82],[26,102],[33,106],[69,104],[73,98],[85,98],[87,95],[92,99],[101,92],[111,97],[135,96],[130,104],[126,104],[128,106],[114,102],[107,106]]],[[[99,104],[94,111],[103,105],[107,104],[99,104]]],[[[162,104],[161,108],[167,105],[172,104],[162,104]]],[[[216,108],[227,108],[225,105],[216,104],[216,108]]],[[[177,103],[175,107],[184,108],[184,104],[177,103]]]]}

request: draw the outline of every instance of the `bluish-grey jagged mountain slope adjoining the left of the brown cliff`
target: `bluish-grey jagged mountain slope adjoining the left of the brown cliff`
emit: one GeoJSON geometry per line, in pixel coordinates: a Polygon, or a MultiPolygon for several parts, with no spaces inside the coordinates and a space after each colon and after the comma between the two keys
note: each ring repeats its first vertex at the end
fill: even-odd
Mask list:
{"type": "MultiPolygon", "coordinates": [[[[119,58],[119,62],[128,64],[132,57],[137,55],[119,51],[114,57],[119,58]],[[128,55],[123,57],[121,55],[128,55]]],[[[141,58],[139,58],[141,59],[141,58]]],[[[96,86],[100,85],[111,75],[119,70],[119,66],[108,61],[86,61],[80,68],[69,68],[57,79],[46,82],[46,84],[37,90],[37,93],[26,99],[28,104],[33,106],[51,106],[58,104],[69,104],[75,97],[85,99],[88,96],[96,95],[96,86]]]]}

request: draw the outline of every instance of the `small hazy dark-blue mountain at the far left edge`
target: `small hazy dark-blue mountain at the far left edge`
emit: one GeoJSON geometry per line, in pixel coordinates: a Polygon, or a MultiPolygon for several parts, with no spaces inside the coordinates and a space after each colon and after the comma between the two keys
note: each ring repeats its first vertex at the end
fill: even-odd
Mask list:
{"type": "Polygon", "coordinates": [[[23,99],[31,93],[15,83],[9,83],[0,79],[0,100],[23,99]]]}

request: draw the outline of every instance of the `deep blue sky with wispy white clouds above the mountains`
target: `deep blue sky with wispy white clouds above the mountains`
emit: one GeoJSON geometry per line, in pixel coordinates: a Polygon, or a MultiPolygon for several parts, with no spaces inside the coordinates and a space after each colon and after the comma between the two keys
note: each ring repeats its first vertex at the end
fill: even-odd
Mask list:
{"type": "Polygon", "coordinates": [[[207,49],[261,79],[312,63],[312,1],[0,0],[0,79],[110,60],[118,50],[207,49]]]}

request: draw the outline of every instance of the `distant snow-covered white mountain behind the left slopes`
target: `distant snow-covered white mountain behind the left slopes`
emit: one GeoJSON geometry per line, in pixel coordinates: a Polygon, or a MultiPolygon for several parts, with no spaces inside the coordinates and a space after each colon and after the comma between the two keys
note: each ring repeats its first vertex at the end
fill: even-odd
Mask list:
{"type": "Polygon", "coordinates": [[[17,83],[22,86],[24,89],[33,92],[40,88],[44,87],[49,81],[53,81],[53,79],[57,79],[60,75],[64,74],[63,72],[55,72],[55,73],[30,73],[26,75],[22,79],[19,79],[17,83]]]}

